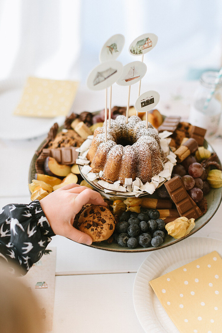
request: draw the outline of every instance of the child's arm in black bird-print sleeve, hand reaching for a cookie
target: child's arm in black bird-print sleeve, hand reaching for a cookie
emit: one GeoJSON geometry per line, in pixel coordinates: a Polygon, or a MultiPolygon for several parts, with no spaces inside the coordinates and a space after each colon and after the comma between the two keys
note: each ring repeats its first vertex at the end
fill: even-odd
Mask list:
{"type": "Polygon", "coordinates": [[[25,274],[56,234],[90,245],[92,238],[73,227],[86,203],[107,205],[100,193],[78,184],[61,187],[41,202],[6,205],[0,214],[0,260],[20,264],[25,274]]]}

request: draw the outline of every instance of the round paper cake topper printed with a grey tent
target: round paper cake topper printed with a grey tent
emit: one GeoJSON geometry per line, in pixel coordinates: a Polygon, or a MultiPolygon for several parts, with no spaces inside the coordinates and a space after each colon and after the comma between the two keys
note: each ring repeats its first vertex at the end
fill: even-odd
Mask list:
{"type": "Polygon", "coordinates": [[[119,78],[122,64],[119,61],[108,61],[95,67],[87,79],[87,87],[92,90],[103,90],[110,87],[119,78]]]}

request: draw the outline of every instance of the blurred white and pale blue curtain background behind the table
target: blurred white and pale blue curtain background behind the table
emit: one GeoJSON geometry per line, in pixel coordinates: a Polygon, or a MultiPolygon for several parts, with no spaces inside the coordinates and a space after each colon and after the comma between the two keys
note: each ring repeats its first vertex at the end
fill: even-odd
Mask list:
{"type": "Polygon", "coordinates": [[[126,64],[140,60],[128,47],[145,32],[159,38],[144,56],[149,81],[192,78],[221,66],[221,17],[221,0],[0,0],[0,80],[35,75],[84,85],[111,35],[125,36],[118,60],[126,64]]]}

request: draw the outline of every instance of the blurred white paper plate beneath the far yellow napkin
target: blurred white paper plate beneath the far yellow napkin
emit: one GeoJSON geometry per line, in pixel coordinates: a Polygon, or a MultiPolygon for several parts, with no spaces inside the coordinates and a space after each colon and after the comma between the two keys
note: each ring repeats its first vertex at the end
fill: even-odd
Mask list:
{"type": "Polygon", "coordinates": [[[48,133],[54,123],[61,125],[64,117],[35,118],[14,116],[13,112],[22,96],[21,82],[0,82],[0,138],[23,140],[48,133]]]}

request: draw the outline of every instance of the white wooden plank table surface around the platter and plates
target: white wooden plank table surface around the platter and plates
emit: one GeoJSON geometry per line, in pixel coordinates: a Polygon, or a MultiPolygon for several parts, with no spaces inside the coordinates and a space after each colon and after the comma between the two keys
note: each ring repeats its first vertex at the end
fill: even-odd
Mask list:
{"type": "MultiPolygon", "coordinates": [[[[189,102],[197,82],[143,84],[141,92],[157,90],[158,110],[166,115],[189,115],[189,102]]],[[[137,87],[130,102],[136,99],[137,87]]],[[[73,110],[78,113],[104,108],[104,96],[80,88],[73,110]]],[[[124,105],[127,91],[113,86],[113,105],[124,105]]],[[[218,134],[222,134],[222,126],[218,134]]],[[[28,169],[35,150],[45,136],[31,140],[0,140],[0,207],[8,203],[28,203],[28,169]]],[[[222,139],[208,140],[222,160],[222,139]]],[[[194,236],[222,239],[222,206],[194,236]]],[[[192,237],[192,236],[191,236],[192,237]]],[[[183,241],[179,243],[183,246],[183,241]]],[[[62,236],[50,243],[57,247],[53,332],[143,332],[132,301],[135,274],[147,253],[115,253],[90,248],[62,236]]],[[[173,245],[172,245],[173,246],[173,245]]]]}

